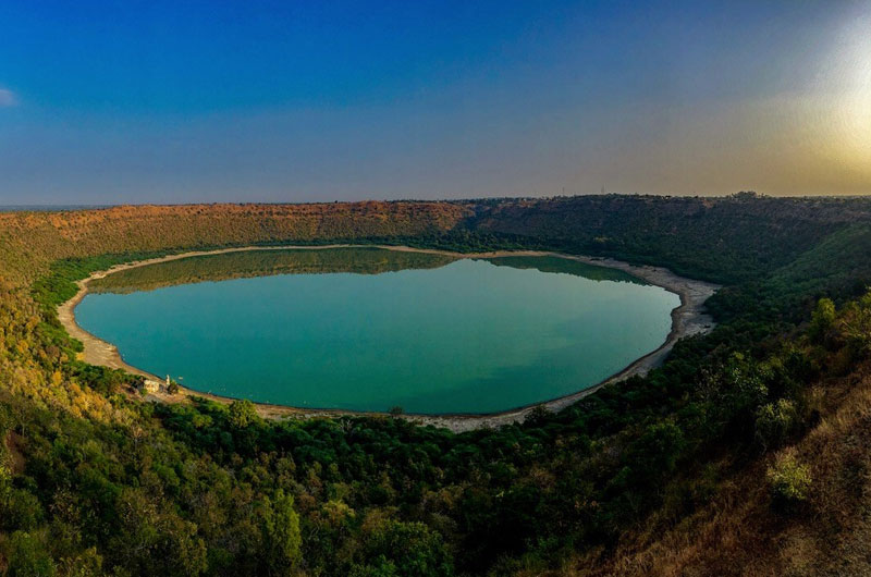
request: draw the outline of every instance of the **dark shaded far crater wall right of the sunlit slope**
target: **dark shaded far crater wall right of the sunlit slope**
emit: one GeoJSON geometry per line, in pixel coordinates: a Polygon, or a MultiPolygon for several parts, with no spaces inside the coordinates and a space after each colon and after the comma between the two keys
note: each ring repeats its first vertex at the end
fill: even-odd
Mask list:
{"type": "Polygon", "coordinates": [[[734,283],[786,265],[846,224],[871,221],[871,200],[579,196],[476,206],[475,230],[564,250],[665,265],[734,283]]]}

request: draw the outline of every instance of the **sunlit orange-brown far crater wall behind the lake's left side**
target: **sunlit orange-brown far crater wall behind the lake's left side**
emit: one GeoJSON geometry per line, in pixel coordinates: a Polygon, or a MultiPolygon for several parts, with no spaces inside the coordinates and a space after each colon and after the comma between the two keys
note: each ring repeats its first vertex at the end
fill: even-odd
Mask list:
{"type": "Polygon", "coordinates": [[[5,281],[57,259],[318,240],[418,236],[450,230],[468,211],[445,202],[126,206],[0,213],[5,281]]]}

